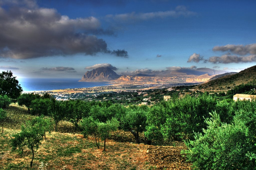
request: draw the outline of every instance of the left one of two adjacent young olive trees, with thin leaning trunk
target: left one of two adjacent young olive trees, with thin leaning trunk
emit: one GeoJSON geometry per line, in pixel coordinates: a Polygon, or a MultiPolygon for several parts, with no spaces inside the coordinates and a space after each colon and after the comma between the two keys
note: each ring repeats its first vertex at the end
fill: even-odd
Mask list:
{"type": "Polygon", "coordinates": [[[100,141],[99,141],[100,136],[98,132],[99,123],[100,123],[99,120],[94,120],[92,116],[83,117],[80,123],[83,136],[87,137],[88,135],[92,135],[95,138],[95,142],[98,149],[100,149],[100,141]]]}

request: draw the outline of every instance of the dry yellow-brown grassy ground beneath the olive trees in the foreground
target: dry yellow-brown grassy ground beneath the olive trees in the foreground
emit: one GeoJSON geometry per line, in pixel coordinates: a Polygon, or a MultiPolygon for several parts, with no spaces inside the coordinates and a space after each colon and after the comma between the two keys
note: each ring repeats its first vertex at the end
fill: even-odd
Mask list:
{"type": "MultiPolygon", "coordinates": [[[[19,132],[21,123],[33,116],[17,105],[6,111],[4,133],[0,134],[0,169],[30,169],[31,151],[25,150],[23,155],[11,152],[10,138],[19,132]]],[[[73,131],[72,124],[62,122],[59,130],[65,129],[73,131]]],[[[120,134],[125,135],[119,132],[117,136],[120,134]]],[[[182,142],[176,142],[176,146],[149,146],[107,140],[106,151],[102,152],[103,142],[97,149],[93,138],[86,139],[80,134],[52,132],[46,137],[35,153],[32,169],[38,169],[41,161],[48,163],[47,169],[190,169],[191,166],[180,155],[186,149],[182,142]]]]}

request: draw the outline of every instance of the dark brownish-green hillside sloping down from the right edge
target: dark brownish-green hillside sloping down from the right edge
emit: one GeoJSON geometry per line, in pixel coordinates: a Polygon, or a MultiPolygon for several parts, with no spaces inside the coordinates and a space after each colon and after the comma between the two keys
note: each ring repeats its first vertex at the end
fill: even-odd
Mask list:
{"type": "Polygon", "coordinates": [[[247,84],[251,81],[256,81],[256,66],[252,66],[245,70],[240,71],[239,73],[222,76],[215,80],[202,83],[194,87],[194,89],[204,88],[204,89],[214,89],[214,90],[221,90],[221,89],[230,89],[234,86],[240,84],[247,84]]]}

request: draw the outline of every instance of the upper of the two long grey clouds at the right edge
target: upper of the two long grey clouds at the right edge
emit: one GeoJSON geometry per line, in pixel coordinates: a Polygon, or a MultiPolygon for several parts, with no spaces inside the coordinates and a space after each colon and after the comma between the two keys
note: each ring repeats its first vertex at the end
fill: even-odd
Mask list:
{"type": "Polygon", "coordinates": [[[248,44],[248,45],[233,45],[228,44],[225,46],[215,46],[212,48],[213,51],[222,51],[222,52],[230,52],[237,55],[247,55],[247,54],[256,54],[256,44],[248,44]]]}

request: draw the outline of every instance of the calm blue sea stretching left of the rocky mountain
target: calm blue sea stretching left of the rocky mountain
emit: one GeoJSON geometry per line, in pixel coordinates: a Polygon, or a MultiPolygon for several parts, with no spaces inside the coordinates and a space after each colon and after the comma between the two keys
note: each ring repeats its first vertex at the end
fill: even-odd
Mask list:
{"type": "Polygon", "coordinates": [[[66,88],[106,86],[108,82],[78,82],[78,79],[18,79],[23,91],[46,91],[66,88]]]}

